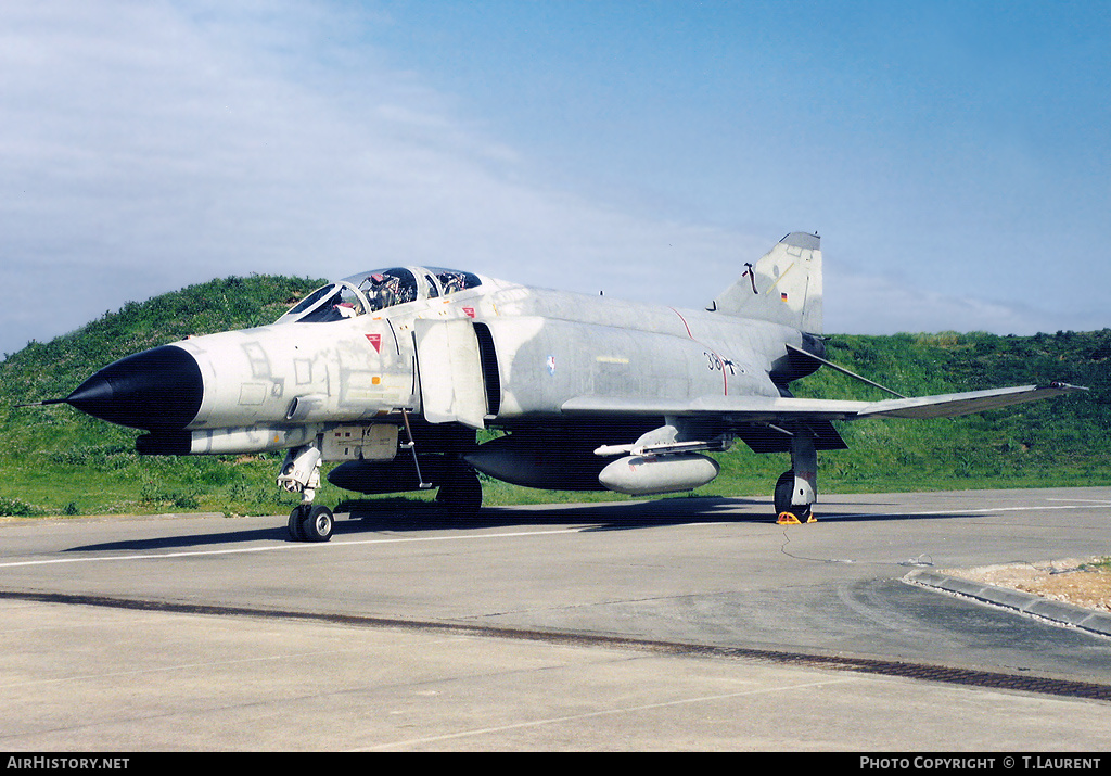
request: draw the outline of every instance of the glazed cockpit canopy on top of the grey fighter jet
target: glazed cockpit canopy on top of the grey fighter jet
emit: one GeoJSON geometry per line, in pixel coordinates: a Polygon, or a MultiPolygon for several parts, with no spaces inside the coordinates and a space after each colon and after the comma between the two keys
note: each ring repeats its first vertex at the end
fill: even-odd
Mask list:
{"type": "Polygon", "coordinates": [[[374,269],[318,288],[277,322],[324,324],[356,318],[388,307],[419,299],[436,299],[481,285],[479,276],[458,269],[374,269]]]}

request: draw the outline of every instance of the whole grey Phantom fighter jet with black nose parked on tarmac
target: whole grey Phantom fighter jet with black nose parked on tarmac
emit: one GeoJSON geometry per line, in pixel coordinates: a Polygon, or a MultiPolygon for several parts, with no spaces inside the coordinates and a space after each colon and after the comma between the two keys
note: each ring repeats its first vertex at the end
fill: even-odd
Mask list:
{"type": "Polygon", "coordinates": [[[146,430],[141,454],[288,450],[278,482],[302,499],[290,534],[326,541],[332,513],[313,505],[323,461],[343,461],[328,475],[340,488],[438,487],[440,503],[473,514],[479,471],[649,496],[711,481],[719,467],[704,454],[740,439],[790,452],[774,509],[807,521],[818,451],[845,447],[834,420],[951,417],[1081,390],[794,398],[790,384],[823,365],[848,372],[825,360],[821,334],[819,238],[802,232],[705,310],[396,267],[324,286],[271,326],[129,356],[43,404],[146,430]],[[482,428],[504,434],[480,445],[482,428]]]}

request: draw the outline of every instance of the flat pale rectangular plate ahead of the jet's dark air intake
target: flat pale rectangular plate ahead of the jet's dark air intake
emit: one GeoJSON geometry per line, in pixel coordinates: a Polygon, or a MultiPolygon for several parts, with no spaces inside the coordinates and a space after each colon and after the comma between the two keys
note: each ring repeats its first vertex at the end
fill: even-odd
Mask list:
{"type": "Polygon", "coordinates": [[[469,318],[416,321],[417,368],[424,419],[484,428],[486,384],[469,318]]]}

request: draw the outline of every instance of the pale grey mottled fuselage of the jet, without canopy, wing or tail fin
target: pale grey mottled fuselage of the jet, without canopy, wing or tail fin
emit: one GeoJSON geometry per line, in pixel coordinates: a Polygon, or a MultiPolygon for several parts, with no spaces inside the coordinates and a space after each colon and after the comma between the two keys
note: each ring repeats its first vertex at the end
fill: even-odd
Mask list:
{"type": "MultiPolygon", "coordinates": [[[[144,451],[234,454],[283,449],[337,424],[396,424],[402,409],[416,416],[426,409],[441,416],[472,409],[450,401],[426,408],[426,399],[440,398],[429,387],[437,377],[450,385],[481,380],[473,398],[486,406],[459,412],[471,427],[565,418],[564,404],[579,397],[629,404],[730,394],[778,397],[771,375],[783,367],[784,342],[801,348],[803,335],[778,324],[483,278],[477,289],[352,318],[193,337],[102,372],[123,365],[159,375],[128,397],[130,416],[107,418],[151,431],[144,451]],[[459,348],[450,339],[437,341],[450,329],[481,338],[492,351],[478,352],[478,361],[452,362],[452,349],[459,348]],[[162,379],[169,348],[182,351],[179,360],[196,362],[197,377],[190,379],[199,386],[173,385],[184,381],[177,374],[162,379]],[[447,361],[429,361],[439,355],[447,361]],[[190,398],[197,396],[199,402],[190,398]]],[[[464,350],[459,359],[473,352],[464,350]]],[[[74,391],[71,402],[81,406],[81,395],[103,381],[102,372],[74,391]]],[[[123,402],[123,391],[113,398],[123,402]]],[[[82,409],[98,415],[99,407],[84,404],[82,409]]]]}

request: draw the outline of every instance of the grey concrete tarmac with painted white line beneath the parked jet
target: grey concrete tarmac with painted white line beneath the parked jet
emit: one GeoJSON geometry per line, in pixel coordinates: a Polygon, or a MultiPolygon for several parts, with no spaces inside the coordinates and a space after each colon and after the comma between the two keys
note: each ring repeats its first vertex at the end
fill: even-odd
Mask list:
{"type": "Polygon", "coordinates": [[[805,526],[768,513],[378,513],[323,545],[274,517],[2,523],[0,748],[1111,745],[1111,639],[903,581],[1111,554],[1111,488],[832,495],[805,526]]]}

